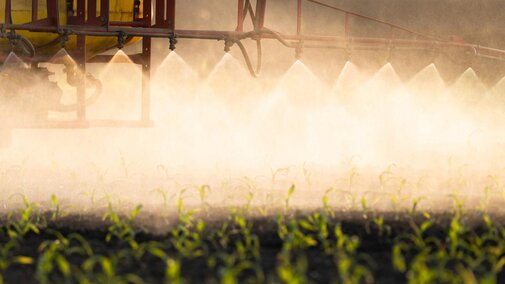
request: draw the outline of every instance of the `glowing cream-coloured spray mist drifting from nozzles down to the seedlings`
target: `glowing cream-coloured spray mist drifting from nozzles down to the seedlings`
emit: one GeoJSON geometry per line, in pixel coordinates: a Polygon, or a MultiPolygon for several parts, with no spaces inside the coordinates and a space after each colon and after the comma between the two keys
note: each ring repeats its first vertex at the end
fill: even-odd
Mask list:
{"type": "MultiPolygon", "coordinates": [[[[359,209],[361,198],[383,211],[424,198],[419,210],[446,211],[455,194],[502,212],[505,78],[485,84],[470,68],[447,80],[435,60],[412,76],[385,56],[366,65],[309,51],[295,60],[279,43],[265,52],[279,61],[265,60],[267,71],[252,78],[238,49],[180,45],[152,60],[154,127],[14,130],[12,146],[0,149],[0,210],[21,206],[20,194],[49,206],[55,194],[83,214],[108,202],[125,212],[143,204],[156,227],[176,214],[179,198],[187,208],[219,210],[252,194],[254,207],[274,212],[295,185],[290,206],[300,210],[327,196],[341,210],[359,209]]],[[[15,54],[8,61],[22,63],[15,54]]],[[[70,64],[62,49],[44,65],[67,104],[75,103],[65,83],[70,64]]],[[[128,52],[87,71],[103,84],[89,119],[140,116],[142,68],[128,52]]]]}

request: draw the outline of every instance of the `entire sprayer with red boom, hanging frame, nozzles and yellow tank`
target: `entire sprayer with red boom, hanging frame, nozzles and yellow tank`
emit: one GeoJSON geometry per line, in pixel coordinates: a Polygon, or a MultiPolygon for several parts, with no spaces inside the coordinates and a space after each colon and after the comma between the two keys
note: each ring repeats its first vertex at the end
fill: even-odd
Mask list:
{"type": "MultiPolygon", "coordinates": [[[[74,122],[60,123],[38,122],[36,125],[24,124],[13,127],[147,127],[152,125],[150,118],[150,72],[151,72],[151,44],[153,38],[165,38],[169,40],[169,48],[175,50],[177,39],[200,39],[224,41],[224,50],[229,52],[233,46],[237,46],[245,60],[250,74],[258,76],[262,66],[262,42],[264,40],[275,40],[284,47],[293,49],[295,57],[300,59],[306,49],[335,49],[345,53],[347,57],[353,52],[360,50],[383,50],[390,58],[393,53],[402,50],[428,51],[430,54],[446,54],[445,50],[457,49],[463,54],[473,59],[483,58],[486,60],[503,61],[505,51],[500,49],[483,47],[455,40],[441,40],[440,38],[423,34],[409,28],[387,22],[381,19],[369,17],[353,11],[342,9],[323,2],[322,0],[293,0],[296,1],[296,33],[285,34],[272,30],[265,26],[267,14],[267,0],[257,0],[253,4],[250,0],[237,0],[237,25],[234,30],[182,30],[176,28],[176,0],[143,0],[134,1],[133,8],[130,7],[131,15],[129,20],[124,17],[117,17],[117,7],[123,7],[125,3],[118,1],[114,6],[111,0],[76,0],[63,1],[46,0],[47,16],[39,18],[38,2],[32,0],[31,4],[26,4],[26,10],[30,11],[29,20],[16,23],[13,21],[12,0],[5,1],[5,21],[0,23],[0,37],[8,38],[13,46],[11,50],[20,47],[24,53],[25,62],[38,64],[47,62],[54,53],[47,52],[51,45],[62,45],[69,51],[75,60],[80,72],[72,73],[71,81],[77,89],[77,103],[74,111],[76,120],[74,122]],[[311,4],[334,11],[343,16],[342,35],[314,35],[306,34],[302,30],[303,5],[311,4]],[[352,19],[357,18],[367,21],[373,25],[384,27],[388,30],[386,37],[357,37],[353,36],[352,19]],[[252,30],[245,30],[245,21],[250,19],[252,30]],[[398,36],[401,33],[403,36],[398,36]],[[22,34],[22,35],[21,35],[22,34]],[[31,35],[46,34],[48,38],[53,38],[44,44],[35,44],[31,40],[31,35]],[[25,36],[26,35],[26,36],[25,36]],[[54,39],[54,36],[56,38],[54,39]],[[142,99],[140,117],[135,121],[90,121],[87,119],[86,107],[86,84],[93,81],[86,78],[86,63],[89,62],[109,62],[112,56],[99,55],[89,50],[88,43],[91,38],[104,38],[108,41],[98,41],[98,49],[101,51],[111,48],[123,48],[124,46],[142,39],[142,51],[132,55],[132,61],[142,65],[142,99]],[[115,45],[110,45],[110,39],[116,39],[115,45]],[[243,41],[252,40],[256,42],[257,63],[253,64],[249,52],[243,41]],[[72,44],[68,44],[72,42],[72,44]],[[256,66],[254,66],[256,65],[256,66]],[[79,77],[79,78],[78,78],[79,77]]],[[[125,6],[126,7],[126,6],[125,6]]],[[[123,8],[121,8],[123,9],[123,8]]],[[[126,9],[126,8],[125,8],[126,9]]],[[[97,49],[97,48],[95,48],[97,49]]],[[[11,51],[9,50],[9,51],[11,51]]],[[[0,50],[1,51],[1,50],[0,50]]],[[[96,51],[95,51],[96,52],[96,51]]],[[[0,58],[0,61],[3,61],[0,58]]],[[[93,81],[94,82],[94,81],[93,81]]],[[[95,82],[96,83],[96,82],[95,82]]],[[[93,83],[93,84],[95,84],[93,83]]],[[[96,85],[96,84],[95,84],[96,85]]],[[[99,88],[97,88],[99,89],[99,88]]]]}

